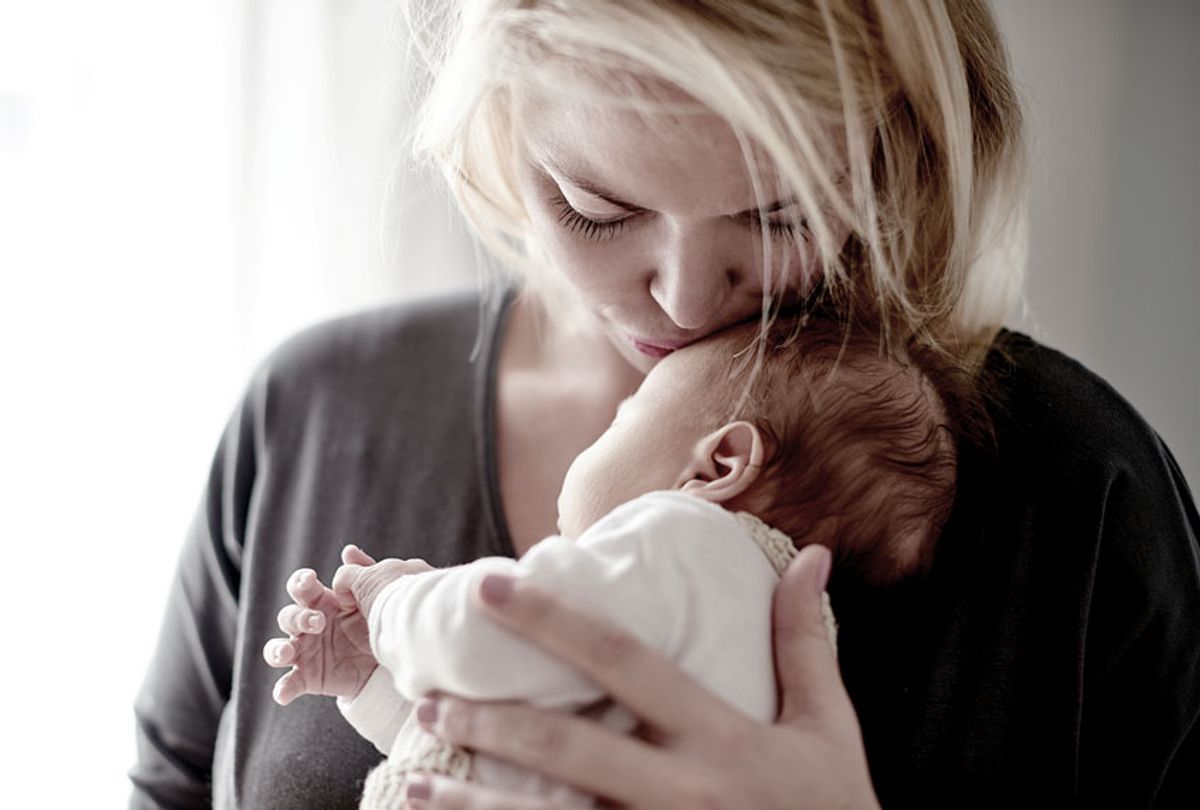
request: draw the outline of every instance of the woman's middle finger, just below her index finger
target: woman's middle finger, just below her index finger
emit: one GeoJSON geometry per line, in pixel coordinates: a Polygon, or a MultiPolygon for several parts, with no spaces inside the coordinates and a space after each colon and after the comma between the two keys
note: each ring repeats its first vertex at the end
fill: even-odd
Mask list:
{"type": "Polygon", "coordinates": [[[684,787],[676,761],[664,750],[570,713],[450,696],[426,698],[416,712],[421,725],[442,739],[622,805],[668,806],[684,787]]]}

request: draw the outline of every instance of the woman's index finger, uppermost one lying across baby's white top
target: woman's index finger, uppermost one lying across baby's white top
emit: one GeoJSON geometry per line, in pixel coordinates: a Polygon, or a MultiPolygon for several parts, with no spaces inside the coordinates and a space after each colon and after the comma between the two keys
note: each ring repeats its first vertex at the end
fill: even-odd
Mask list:
{"type": "Polygon", "coordinates": [[[728,728],[744,718],[631,634],[511,577],[484,577],[480,595],[498,624],[600,684],[665,734],[728,728]]]}

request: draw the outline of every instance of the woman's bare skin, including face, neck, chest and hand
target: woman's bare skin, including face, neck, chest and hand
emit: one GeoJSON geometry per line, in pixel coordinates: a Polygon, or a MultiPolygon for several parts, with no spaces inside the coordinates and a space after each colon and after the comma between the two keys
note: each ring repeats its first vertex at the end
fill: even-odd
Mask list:
{"type": "MultiPolygon", "coordinates": [[[[518,302],[502,344],[498,466],[521,554],[553,533],[554,498],[568,467],[611,422],[640,376],[658,365],[661,348],[754,317],[768,284],[756,269],[763,226],[746,214],[760,200],[737,139],[720,119],[689,116],[686,126],[647,128],[636,115],[535,97],[518,97],[516,113],[530,235],[584,308],[581,320],[564,324],[539,319],[536,306],[518,302]],[[628,220],[592,239],[599,232],[581,226],[572,211],[593,221],[628,220]]],[[[786,190],[766,196],[773,192],[786,197],[786,190]]],[[[780,242],[776,254],[786,258],[766,274],[769,288],[800,295],[820,268],[803,239],[780,242]]],[[[450,696],[422,703],[419,716],[448,740],[616,806],[878,806],[824,635],[820,593],[828,566],[828,552],[808,546],[776,589],[782,710],[775,724],[746,720],[605,622],[535,589],[491,581],[484,598],[492,598],[496,620],[602,684],[643,720],[643,733],[620,737],[571,714],[450,696]],[[503,604],[494,599],[505,592],[503,604]]],[[[552,806],[443,779],[414,781],[409,790],[412,808],[552,806]]]]}

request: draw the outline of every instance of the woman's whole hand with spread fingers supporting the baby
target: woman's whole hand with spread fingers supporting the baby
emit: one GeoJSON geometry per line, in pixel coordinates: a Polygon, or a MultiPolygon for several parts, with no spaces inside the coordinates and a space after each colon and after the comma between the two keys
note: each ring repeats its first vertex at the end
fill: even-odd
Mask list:
{"type": "MultiPolygon", "coordinates": [[[[548,594],[487,577],[481,596],[502,625],[589,676],[642,720],[638,737],[528,706],[427,698],[418,716],[457,745],[486,751],[622,808],[877,808],[853,706],[821,611],[829,552],[806,546],[775,592],[780,715],[750,720],[629,634],[548,594]]],[[[432,778],[409,806],[545,810],[545,799],[432,778]]]]}

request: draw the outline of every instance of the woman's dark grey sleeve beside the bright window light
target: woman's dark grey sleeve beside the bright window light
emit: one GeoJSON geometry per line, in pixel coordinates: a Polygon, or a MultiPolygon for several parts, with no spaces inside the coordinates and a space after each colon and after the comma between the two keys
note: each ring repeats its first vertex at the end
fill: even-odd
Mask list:
{"type": "Polygon", "coordinates": [[[232,686],[241,539],[256,475],[252,437],[252,409],[244,403],[214,460],[134,703],[133,809],[212,805],[217,730],[232,686]]]}

